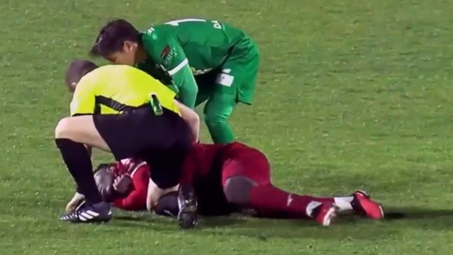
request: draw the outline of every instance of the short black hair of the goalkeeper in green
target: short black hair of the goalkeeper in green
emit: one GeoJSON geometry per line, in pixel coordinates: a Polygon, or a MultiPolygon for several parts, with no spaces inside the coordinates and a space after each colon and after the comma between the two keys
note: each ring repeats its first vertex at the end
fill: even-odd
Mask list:
{"type": "Polygon", "coordinates": [[[122,51],[125,41],[141,43],[140,31],[124,19],[111,20],[99,31],[89,54],[93,57],[108,57],[122,51]]]}

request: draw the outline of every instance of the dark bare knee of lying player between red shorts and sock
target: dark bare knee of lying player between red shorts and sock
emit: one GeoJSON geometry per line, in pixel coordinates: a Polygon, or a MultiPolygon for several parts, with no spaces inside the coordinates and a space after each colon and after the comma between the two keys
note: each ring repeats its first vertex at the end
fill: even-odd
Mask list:
{"type": "Polygon", "coordinates": [[[235,176],[226,180],[223,192],[229,203],[248,205],[250,203],[250,193],[253,187],[256,186],[258,184],[248,177],[235,176]]]}

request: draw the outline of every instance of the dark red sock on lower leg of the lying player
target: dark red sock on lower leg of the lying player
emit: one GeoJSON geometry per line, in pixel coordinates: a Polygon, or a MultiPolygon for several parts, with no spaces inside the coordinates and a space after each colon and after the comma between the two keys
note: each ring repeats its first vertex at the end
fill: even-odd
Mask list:
{"type": "Polygon", "coordinates": [[[306,208],[311,202],[334,203],[334,198],[299,196],[283,191],[272,184],[254,187],[250,194],[251,207],[261,217],[307,218],[306,208]]]}

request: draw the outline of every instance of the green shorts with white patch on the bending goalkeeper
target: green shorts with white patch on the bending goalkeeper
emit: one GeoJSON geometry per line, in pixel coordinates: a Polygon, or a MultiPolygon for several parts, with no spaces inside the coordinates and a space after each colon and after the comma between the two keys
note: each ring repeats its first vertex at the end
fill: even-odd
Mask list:
{"type": "Polygon", "coordinates": [[[239,41],[220,68],[195,76],[198,85],[195,105],[214,98],[251,105],[259,64],[258,46],[250,38],[239,41]]]}

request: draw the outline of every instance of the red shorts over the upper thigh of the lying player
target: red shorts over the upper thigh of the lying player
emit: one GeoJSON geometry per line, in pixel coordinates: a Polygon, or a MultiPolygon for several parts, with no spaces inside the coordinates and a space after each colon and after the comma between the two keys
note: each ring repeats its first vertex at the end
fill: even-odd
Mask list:
{"type": "Polygon", "coordinates": [[[258,185],[271,182],[269,161],[265,154],[242,143],[232,143],[225,150],[222,168],[222,186],[235,176],[244,176],[258,185]]]}

